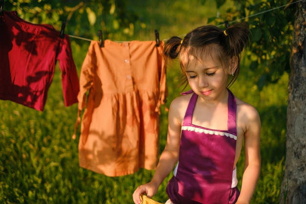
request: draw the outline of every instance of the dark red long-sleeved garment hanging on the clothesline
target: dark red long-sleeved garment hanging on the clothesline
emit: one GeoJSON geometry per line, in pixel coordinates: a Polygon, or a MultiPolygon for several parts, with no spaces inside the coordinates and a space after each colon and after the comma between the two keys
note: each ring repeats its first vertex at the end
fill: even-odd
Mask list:
{"type": "Polygon", "coordinates": [[[65,105],[76,102],[79,79],[69,37],[48,24],[22,20],[16,11],[0,16],[0,99],[43,111],[56,61],[62,71],[65,105]]]}

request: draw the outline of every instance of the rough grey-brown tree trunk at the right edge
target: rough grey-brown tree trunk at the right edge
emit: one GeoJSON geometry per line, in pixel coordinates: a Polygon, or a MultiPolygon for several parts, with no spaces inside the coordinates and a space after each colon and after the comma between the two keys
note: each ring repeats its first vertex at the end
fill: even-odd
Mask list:
{"type": "Polygon", "coordinates": [[[280,204],[306,204],[306,0],[296,3],[280,204]]]}

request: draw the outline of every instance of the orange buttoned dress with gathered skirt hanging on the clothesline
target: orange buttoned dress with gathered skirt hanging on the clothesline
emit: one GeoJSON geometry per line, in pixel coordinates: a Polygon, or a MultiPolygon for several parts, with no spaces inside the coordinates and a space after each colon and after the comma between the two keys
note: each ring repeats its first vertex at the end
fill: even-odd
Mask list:
{"type": "Polygon", "coordinates": [[[91,41],[80,74],[80,166],[107,176],[156,167],[165,103],[164,42],[91,41]]]}

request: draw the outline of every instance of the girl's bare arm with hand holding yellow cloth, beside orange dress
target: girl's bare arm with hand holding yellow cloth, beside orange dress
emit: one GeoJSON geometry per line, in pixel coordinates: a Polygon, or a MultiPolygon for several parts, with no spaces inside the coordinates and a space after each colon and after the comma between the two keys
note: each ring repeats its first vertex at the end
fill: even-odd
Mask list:
{"type": "Polygon", "coordinates": [[[151,198],[158,190],[159,185],[173,170],[178,159],[179,142],[181,133],[181,124],[179,119],[179,106],[177,100],[174,100],[168,113],[168,135],[164,151],[161,153],[153,179],[146,184],[140,185],[133,193],[133,201],[140,204],[139,196],[143,193],[151,198]]]}

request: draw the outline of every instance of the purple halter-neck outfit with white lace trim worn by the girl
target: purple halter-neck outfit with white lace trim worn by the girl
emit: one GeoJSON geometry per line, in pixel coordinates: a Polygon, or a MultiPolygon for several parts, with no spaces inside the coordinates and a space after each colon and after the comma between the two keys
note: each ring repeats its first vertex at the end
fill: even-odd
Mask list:
{"type": "Polygon", "coordinates": [[[167,185],[174,204],[235,204],[239,197],[232,188],[236,152],[236,99],[228,96],[227,131],[211,130],[192,124],[197,101],[193,93],[181,128],[176,175],[167,185]]]}

